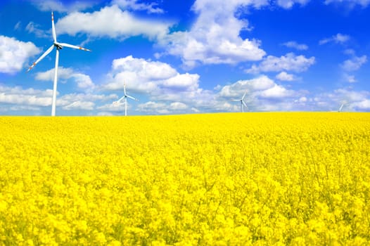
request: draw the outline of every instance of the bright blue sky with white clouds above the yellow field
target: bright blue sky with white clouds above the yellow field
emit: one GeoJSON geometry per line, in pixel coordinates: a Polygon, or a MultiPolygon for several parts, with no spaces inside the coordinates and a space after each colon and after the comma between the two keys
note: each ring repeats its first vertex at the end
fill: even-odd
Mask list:
{"type": "Polygon", "coordinates": [[[370,0],[0,3],[0,115],[370,111],[370,0]]]}

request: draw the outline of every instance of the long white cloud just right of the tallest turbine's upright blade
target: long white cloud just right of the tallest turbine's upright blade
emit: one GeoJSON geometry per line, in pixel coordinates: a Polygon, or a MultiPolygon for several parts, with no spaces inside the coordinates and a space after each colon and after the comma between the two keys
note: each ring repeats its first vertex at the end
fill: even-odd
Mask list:
{"type": "Polygon", "coordinates": [[[91,37],[125,39],[143,35],[157,39],[168,33],[172,23],[143,20],[128,11],[121,11],[117,5],[106,6],[94,13],[73,12],[60,18],[56,23],[58,34],[86,33],[91,37]]]}

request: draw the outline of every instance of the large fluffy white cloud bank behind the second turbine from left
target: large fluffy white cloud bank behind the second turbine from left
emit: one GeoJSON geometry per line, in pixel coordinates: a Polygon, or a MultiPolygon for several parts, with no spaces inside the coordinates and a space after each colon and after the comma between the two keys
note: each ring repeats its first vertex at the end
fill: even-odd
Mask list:
{"type": "MultiPolygon", "coordinates": [[[[123,84],[126,82],[129,95],[139,97],[137,94],[141,94],[148,98],[152,103],[137,106],[143,113],[149,112],[153,107],[157,107],[153,112],[166,114],[198,112],[198,108],[212,110],[215,94],[200,88],[199,75],[187,72],[180,74],[167,63],[127,56],[113,60],[107,79],[109,82],[103,85],[103,89],[123,91],[123,84]]],[[[132,102],[129,105],[134,104],[132,102]]],[[[117,112],[117,108],[110,105],[99,109],[117,112]]]]}

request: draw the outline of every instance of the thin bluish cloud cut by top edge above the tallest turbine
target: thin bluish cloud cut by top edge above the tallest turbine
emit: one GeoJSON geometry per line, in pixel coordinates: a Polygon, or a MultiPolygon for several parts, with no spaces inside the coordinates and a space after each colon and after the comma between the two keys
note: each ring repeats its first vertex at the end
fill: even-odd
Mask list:
{"type": "Polygon", "coordinates": [[[94,6],[98,1],[82,0],[82,1],[59,1],[59,0],[32,0],[32,4],[37,6],[41,11],[59,11],[72,12],[82,11],[94,6]]]}

